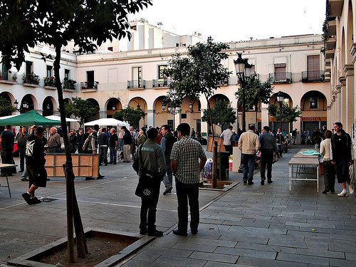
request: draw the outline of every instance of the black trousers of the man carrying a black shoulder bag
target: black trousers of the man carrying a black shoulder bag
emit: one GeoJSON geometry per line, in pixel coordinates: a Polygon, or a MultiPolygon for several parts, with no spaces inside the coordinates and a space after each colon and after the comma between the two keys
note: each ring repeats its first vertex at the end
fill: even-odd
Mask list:
{"type": "Polygon", "coordinates": [[[156,212],[159,198],[159,182],[152,191],[152,198],[141,198],[140,229],[150,233],[156,229],[156,212]]]}

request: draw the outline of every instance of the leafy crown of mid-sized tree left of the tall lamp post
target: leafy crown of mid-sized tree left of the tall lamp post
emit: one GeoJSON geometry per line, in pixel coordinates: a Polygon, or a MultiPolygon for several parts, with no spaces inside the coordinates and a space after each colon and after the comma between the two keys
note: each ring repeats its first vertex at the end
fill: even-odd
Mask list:
{"type": "Polygon", "coordinates": [[[189,46],[187,57],[174,54],[164,70],[164,75],[172,78],[167,93],[170,102],[182,103],[184,97],[199,99],[200,95],[204,95],[210,110],[209,98],[220,88],[221,81],[229,79],[231,74],[221,64],[221,61],[229,58],[223,52],[227,48],[229,46],[226,43],[214,43],[209,37],[206,43],[189,46]]]}

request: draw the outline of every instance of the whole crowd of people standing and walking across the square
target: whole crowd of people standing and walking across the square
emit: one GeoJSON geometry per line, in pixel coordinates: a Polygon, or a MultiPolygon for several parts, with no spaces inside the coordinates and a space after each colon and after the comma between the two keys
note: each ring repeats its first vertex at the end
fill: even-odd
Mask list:
{"type": "MultiPolygon", "coordinates": [[[[350,135],[342,130],[342,124],[335,122],[332,131],[323,127],[323,132],[315,129],[311,134],[312,142],[320,146],[320,155],[323,156],[325,167],[325,190],[323,194],[335,192],[335,175],[337,182],[342,186],[342,192],[337,194],[345,197],[347,184],[350,194],[354,190],[350,184],[348,167],[352,161],[352,143],[350,135]]],[[[45,169],[46,152],[61,153],[63,131],[60,127],[51,127],[48,138],[45,137],[46,129],[33,125],[29,130],[21,127],[15,136],[11,125],[6,125],[0,136],[1,162],[14,164],[12,157],[14,143],[19,147],[19,172],[23,172],[22,181],[28,181],[28,190],[22,194],[28,204],[41,203],[35,196],[38,187],[46,187],[49,180],[45,169]],[[46,149],[46,150],[45,150],[46,149]],[[26,159],[26,161],[25,161],[26,159]],[[28,178],[27,178],[28,177],[28,178]]],[[[292,142],[295,144],[297,130],[292,132],[292,142]]],[[[231,142],[238,142],[241,150],[243,163],[243,183],[253,184],[253,172],[255,169],[256,156],[261,158],[261,185],[272,181],[273,157],[283,157],[281,146],[285,134],[278,129],[273,134],[270,127],[264,126],[261,134],[256,132],[255,125],[248,125],[246,132],[239,130],[234,132],[229,126],[220,137],[223,139],[227,152],[232,154],[231,142]],[[267,175],[266,175],[267,171],[267,175]]],[[[82,128],[71,129],[68,132],[69,150],[71,153],[88,153],[99,156],[99,166],[130,163],[139,175],[139,185],[142,192],[140,211],[140,234],[149,236],[162,236],[155,226],[157,203],[159,199],[159,187],[164,183],[163,194],[169,194],[173,188],[173,177],[178,201],[178,227],[173,233],[179,236],[187,236],[188,233],[188,206],[190,207],[190,230],[197,234],[199,226],[199,182],[200,172],[204,169],[206,155],[197,138],[197,132],[190,129],[187,123],[178,125],[177,130],[172,132],[169,125],[162,127],[134,127],[122,126],[120,130],[114,127],[106,128],[95,125],[87,127],[85,132],[82,128]],[[146,186],[142,187],[143,180],[146,186]],[[150,181],[147,185],[147,181],[150,181]]],[[[13,169],[1,169],[1,176],[11,176],[13,169]]],[[[15,170],[16,172],[16,170],[15,170]]],[[[98,179],[104,176],[100,174],[98,179]]],[[[137,189],[139,186],[137,185],[137,189]]],[[[140,192],[140,190],[139,190],[140,192]]]]}

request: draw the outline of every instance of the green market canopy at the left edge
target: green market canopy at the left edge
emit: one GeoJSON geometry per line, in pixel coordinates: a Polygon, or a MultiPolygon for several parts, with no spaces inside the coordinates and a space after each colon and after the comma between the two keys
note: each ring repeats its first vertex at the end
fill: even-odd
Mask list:
{"type": "Polygon", "coordinates": [[[0,120],[0,125],[11,125],[11,126],[21,126],[21,125],[61,125],[59,120],[48,120],[46,117],[38,114],[35,110],[30,110],[26,113],[16,115],[14,117],[8,117],[7,119],[0,120]]]}

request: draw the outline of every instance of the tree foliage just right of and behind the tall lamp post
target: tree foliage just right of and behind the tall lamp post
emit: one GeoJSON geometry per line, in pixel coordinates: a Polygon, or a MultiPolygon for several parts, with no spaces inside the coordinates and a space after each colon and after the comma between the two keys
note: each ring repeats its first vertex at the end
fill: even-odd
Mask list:
{"type": "MultiPolygon", "coordinates": [[[[235,93],[238,98],[239,105],[242,106],[242,88],[235,93]]],[[[271,85],[271,79],[261,83],[261,80],[257,78],[257,74],[251,75],[245,88],[245,111],[251,110],[253,106],[255,110],[258,109],[258,103],[268,104],[269,99],[273,93],[273,86],[271,85]]]]}

